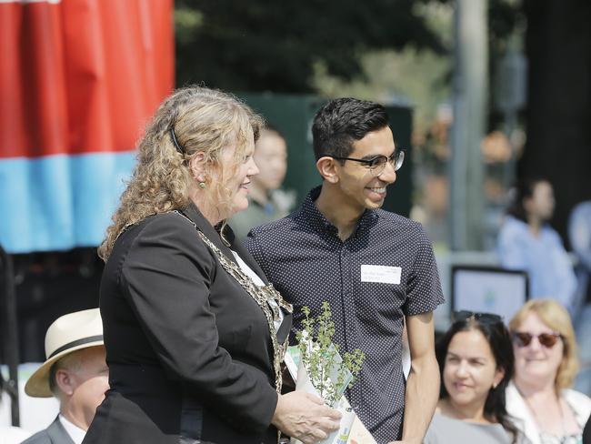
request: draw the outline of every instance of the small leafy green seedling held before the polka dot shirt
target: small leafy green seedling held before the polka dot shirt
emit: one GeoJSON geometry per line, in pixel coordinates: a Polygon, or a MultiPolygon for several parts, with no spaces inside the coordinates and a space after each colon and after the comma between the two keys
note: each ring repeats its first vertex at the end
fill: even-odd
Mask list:
{"type": "Polygon", "coordinates": [[[310,317],[308,307],[303,307],[302,312],[305,319],[296,334],[300,358],[318,395],[334,407],[346,387],[355,381],[366,356],[359,348],[339,356],[338,346],[333,343],[335,322],[328,302],[322,303],[317,318],[310,317]]]}

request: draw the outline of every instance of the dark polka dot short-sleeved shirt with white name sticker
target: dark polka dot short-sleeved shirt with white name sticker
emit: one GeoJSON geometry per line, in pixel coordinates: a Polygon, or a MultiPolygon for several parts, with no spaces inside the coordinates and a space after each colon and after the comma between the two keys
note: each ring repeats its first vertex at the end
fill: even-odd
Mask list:
{"type": "Polygon", "coordinates": [[[400,439],[405,408],[401,334],[405,316],[444,301],[433,248],[423,227],[381,209],[366,210],[342,241],[316,208],[320,187],[291,215],[254,228],[245,244],[267,278],[294,304],[294,329],[307,306],[330,303],[341,350],[366,354],[346,397],[381,444],[400,439]]]}

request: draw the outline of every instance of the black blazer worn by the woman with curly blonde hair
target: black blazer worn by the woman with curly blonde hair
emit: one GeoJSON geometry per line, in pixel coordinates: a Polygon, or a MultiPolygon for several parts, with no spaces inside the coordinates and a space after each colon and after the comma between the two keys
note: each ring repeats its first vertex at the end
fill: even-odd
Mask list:
{"type": "MultiPolygon", "coordinates": [[[[195,206],[183,213],[235,259],[195,206]]],[[[115,242],[100,289],[111,389],[85,444],[277,441],[265,314],[186,217],[147,217],[115,242]]],[[[231,247],[266,282],[245,248],[231,247]]],[[[286,316],[280,340],[290,325],[286,316]]]]}

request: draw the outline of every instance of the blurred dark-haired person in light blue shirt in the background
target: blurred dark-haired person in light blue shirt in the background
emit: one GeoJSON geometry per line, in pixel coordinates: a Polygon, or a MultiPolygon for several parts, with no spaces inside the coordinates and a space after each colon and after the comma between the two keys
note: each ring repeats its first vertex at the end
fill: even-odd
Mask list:
{"type": "Polygon", "coordinates": [[[527,271],[533,298],[554,298],[572,310],[576,276],[560,236],[548,224],[554,207],[548,181],[520,182],[498,234],[497,252],[503,267],[527,271]]]}

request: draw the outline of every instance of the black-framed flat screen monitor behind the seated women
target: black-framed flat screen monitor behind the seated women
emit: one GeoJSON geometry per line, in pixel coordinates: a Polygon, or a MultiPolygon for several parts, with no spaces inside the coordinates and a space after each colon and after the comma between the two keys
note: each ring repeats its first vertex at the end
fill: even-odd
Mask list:
{"type": "Polygon", "coordinates": [[[529,298],[525,271],[498,267],[452,267],[452,311],[495,313],[505,323],[529,298]]]}

